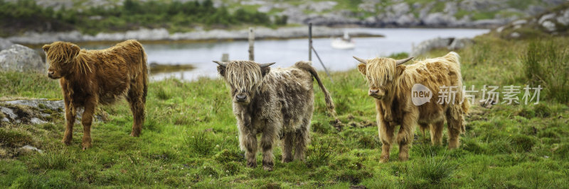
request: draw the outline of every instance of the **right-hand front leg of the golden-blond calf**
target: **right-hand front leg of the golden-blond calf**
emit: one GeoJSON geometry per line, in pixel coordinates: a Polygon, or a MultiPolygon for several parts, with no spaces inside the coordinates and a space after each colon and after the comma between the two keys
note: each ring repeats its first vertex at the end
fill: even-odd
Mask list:
{"type": "Polygon", "coordinates": [[[409,159],[409,149],[413,144],[413,132],[415,125],[417,125],[418,113],[405,113],[403,115],[403,123],[397,134],[397,141],[399,143],[399,160],[407,161],[409,159]]]}

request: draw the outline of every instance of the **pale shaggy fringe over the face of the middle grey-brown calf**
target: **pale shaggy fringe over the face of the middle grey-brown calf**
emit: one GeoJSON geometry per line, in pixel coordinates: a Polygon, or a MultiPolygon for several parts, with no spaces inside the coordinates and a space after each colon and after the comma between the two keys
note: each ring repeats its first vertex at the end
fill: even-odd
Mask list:
{"type": "Polygon", "coordinates": [[[261,68],[255,62],[234,61],[225,68],[225,79],[237,91],[252,91],[262,82],[261,68]]]}

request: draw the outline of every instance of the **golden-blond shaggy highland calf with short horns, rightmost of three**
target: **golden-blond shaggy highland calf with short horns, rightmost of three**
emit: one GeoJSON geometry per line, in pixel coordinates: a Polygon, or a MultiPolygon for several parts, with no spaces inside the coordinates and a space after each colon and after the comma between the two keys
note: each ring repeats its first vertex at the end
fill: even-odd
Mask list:
{"type": "Polygon", "coordinates": [[[376,98],[377,124],[379,138],[383,144],[380,161],[389,161],[389,150],[393,144],[396,125],[401,125],[397,134],[399,159],[409,159],[409,149],[413,143],[415,125],[420,125],[423,133],[430,128],[432,144],[442,144],[442,129],[447,120],[449,149],[459,146],[459,134],[464,132],[463,114],[468,112],[468,101],[462,101],[462,77],[459,55],[450,52],[444,57],[425,59],[408,66],[407,59],[374,58],[360,59],[358,70],[366,76],[369,84],[368,95],[376,98]],[[412,88],[415,84],[426,86],[432,91],[427,103],[415,105],[412,101],[412,88]],[[454,100],[438,102],[441,86],[457,86],[454,100]]]}

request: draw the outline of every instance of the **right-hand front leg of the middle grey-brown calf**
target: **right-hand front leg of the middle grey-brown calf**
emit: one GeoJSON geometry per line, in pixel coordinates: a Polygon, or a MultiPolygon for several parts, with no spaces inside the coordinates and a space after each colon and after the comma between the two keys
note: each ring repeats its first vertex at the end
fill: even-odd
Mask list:
{"type": "Polygon", "coordinates": [[[274,125],[267,125],[261,136],[261,149],[262,149],[262,168],[265,171],[272,171],[275,166],[275,156],[272,154],[272,143],[277,138],[277,130],[274,125]]]}

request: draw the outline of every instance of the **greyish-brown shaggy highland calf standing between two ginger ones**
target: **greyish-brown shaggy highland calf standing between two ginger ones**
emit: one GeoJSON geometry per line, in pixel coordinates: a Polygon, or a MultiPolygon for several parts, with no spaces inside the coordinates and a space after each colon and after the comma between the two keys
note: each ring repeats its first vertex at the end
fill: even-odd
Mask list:
{"type": "MultiPolygon", "coordinates": [[[[216,62],[216,61],[214,61],[216,62]]],[[[282,136],[282,162],[304,161],[314,110],[312,77],[324,92],[326,107],[334,113],[334,103],[310,62],[297,62],[285,69],[270,69],[275,63],[252,61],[216,62],[218,73],[231,90],[233,113],[237,118],[240,148],[247,166],[256,167],[257,134],[262,133],[262,166],[272,171],[273,142],[282,136]]]]}

